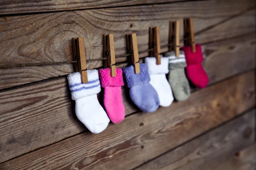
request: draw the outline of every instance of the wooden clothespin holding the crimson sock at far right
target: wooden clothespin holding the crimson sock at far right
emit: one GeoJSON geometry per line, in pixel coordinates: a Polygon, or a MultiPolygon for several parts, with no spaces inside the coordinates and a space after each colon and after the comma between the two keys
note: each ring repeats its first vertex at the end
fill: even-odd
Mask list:
{"type": "Polygon", "coordinates": [[[192,18],[187,18],[183,20],[184,24],[184,45],[191,46],[192,53],[195,52],[195,35],[192,18]]]}

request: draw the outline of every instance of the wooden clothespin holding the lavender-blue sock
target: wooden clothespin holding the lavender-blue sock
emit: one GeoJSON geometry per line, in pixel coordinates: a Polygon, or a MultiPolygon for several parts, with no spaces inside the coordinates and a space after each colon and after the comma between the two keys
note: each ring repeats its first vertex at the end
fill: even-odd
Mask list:
{"type": "Polygon", "coordinates": [[[131,63],[134,65],[135,74],[140,73],[140,61],[137,45],[137,35],[126,34],[127,51],[131,54],[131,63]]]}

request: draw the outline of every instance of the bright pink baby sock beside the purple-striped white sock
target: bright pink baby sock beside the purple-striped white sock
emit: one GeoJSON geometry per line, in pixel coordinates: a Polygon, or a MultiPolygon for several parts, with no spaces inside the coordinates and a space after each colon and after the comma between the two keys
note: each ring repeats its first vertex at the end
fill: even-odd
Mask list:
{"type": "Polygon", "coordinates": [[[122,69],[116,68],[116,77],[110,76],[110,68],[100,69],[99,78],[104,88],[104,106],[108,117],[113,123],[120,123],[125,119],[125,106],[121,94],[121,86],[124,85],[122,69]]]}

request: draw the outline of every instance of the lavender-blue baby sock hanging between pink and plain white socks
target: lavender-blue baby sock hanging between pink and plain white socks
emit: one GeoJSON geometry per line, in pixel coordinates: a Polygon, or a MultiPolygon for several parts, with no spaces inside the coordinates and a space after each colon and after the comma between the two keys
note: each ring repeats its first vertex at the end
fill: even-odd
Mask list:
{"type": "Polygon", "coordinates": [[[123,68],[128,88],[130,88],[131,100],[145,112],[153,112],[159,107],[159,98],[157,91],[149,83],[148,66],[145,63],[140,64],[140,73],[134,73],[134,66],[123,68]]]}

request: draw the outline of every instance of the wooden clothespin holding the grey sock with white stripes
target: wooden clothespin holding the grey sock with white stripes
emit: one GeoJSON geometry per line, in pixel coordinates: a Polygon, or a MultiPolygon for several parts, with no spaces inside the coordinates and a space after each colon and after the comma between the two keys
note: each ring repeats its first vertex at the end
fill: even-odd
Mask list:
{"type": "Polygon", "coordinates": [[[171,21],[169,28],[169,51],[175,51],[175,56],[180,56],[180,21],[171,21]]]}

